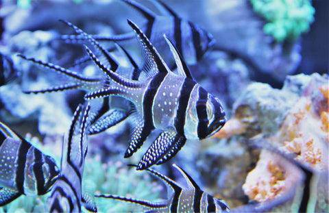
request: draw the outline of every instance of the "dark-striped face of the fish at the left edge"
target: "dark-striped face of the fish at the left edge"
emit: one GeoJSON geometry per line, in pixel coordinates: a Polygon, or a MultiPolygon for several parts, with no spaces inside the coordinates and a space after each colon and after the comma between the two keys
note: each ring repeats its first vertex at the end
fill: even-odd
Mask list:
{"type": "Polygon", "coordinates": [[[45,177],[45,192],[49,191],[60,175],[60,168],[56,164],[56,160],[49,155],[45,155],[45,162],[42,165],[43,176],[45,177]]]}

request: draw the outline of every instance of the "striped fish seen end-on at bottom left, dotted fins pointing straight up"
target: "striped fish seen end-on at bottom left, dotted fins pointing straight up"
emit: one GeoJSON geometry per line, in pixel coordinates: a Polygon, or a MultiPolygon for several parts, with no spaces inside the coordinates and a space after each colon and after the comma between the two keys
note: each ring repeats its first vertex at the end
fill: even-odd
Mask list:
{"type": "Polygon", "coordinates": [[[86,106],[84,113],[82,108],[82,105],[79,105],[75,110],[69,133],[64,138],[60,175],[53,185],[49,199],[50,212],[82,212],[82,205],[87,210],[97,212],[90,199],[82,196],[90,105],[86,106]]]}

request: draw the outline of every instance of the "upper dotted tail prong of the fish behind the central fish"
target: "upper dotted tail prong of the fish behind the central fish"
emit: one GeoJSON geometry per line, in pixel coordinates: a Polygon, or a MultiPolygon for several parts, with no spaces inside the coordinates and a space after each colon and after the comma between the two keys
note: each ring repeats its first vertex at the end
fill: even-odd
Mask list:
{"type": "Polygon", "coordinates": [[[42,62],[41,60],[38,60],[36,58],[27,58],[25,55],[17,55],[20,58],[23,58],[24,60],[28,60],[30,62],[33,62],[34,64],[38,64],[40,66],[44,66],[45,68],[49,68],[51,71],[55,71],[57,73],[66,75],[68,77],[72,77],[74,79],[77,79],[79,81],[82,82],[99,82],[101,81],[101,79],[99,78],[92,78],[92,77],[84,77],[78,73],[75,73],[73,71],[69,71],[66,68],[62,68],[61,66],[55,65],[55,64],[51,64],[51,63],[47,63],[47,62],[42,62]]]}

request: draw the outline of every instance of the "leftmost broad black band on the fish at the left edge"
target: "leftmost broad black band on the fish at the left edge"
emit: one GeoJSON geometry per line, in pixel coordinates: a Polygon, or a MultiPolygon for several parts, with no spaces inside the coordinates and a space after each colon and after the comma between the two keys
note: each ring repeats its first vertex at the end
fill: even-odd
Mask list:
{"type": "Polygon", "coordinates": [[[21,145],[19,146],[19,153],[17,156],[17,168],[16,168],[16,177],[15,183],[16,188],[19,192],[24,194],[24,179],[25,179],[25,163],[27,157],[27,151],[31,145],[26,140],[21,141],[21,145]]]}

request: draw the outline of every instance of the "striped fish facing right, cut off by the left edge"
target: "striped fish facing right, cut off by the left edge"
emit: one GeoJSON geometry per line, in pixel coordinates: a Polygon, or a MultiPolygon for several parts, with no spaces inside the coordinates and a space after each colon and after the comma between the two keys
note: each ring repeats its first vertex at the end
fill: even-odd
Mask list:
{"type": "Polygon", "coordinates": [[[0,206],[21,195],[44,195],[58,174],[53,158],[0,122],[0,206]]]}

